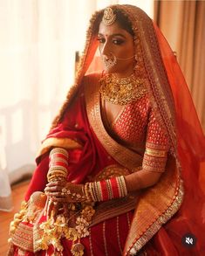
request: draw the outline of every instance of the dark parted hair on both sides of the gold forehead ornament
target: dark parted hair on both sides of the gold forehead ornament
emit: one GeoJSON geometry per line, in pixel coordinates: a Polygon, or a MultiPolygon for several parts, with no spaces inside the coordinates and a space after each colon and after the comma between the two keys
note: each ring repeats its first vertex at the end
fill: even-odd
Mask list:
{"type": "MultiPolygon", "coordinates": [[[[116,14],[116,22],[120,25],[120,28],[130,33],[132,36],[134,36],[132,24],[129,21],[128,17],[118,9],[113,10],[114,14],[116,14]]],[[[94,32],[98,33],[99,31],[99,24],[102,21],[102,17],[104,14],[104,10],[99,13],[99,17],[96,19],[96,24],[94,25],[94,32]]]]}

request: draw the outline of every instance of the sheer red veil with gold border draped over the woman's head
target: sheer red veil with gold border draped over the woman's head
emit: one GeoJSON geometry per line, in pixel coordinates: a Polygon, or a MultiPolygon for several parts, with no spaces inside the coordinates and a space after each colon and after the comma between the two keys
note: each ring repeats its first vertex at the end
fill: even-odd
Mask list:
{"type": "MultiPolygon", "coordinates": [[[[167,224],[154,236],[156,245],[162,245],[163,242],[164,245],[168,245],[161,246],[161,252],[165,255],[167,252],[178,255],[177,250],[187,253],[187,251],[183,251],[185,248],[181,244],[181,238],[186,233],[194,234],[197,239],[195,251],[190,249],[190,255],[194,255],[193,252],[205,252],[205,244],[202,241],[202,234],[205,233],[205,221],[203,219],[205,216],[205,196],[199,179],[200,163],[205,161],[205,140],[193,101],[188,92],[188,86],[172,50],[152,19],[136,6],[113,5],[111,7],[113,10],[120,10],[124,13],[133,26],[137,62],[135,73],[138,77],[148,80],[147,88],[152,106],[159,113],[159,121],[167,128],[171,142],[170,155],[174,157],[176,162],[176,183],[178,183],[178,190],[176,190],[176,198],[178,199],[174,201],[174,211],[168,215],[168,218],[164,218],[164,216],[161,219],[158,218],[157,226],[149,229],[149,232],[145,232],[143,235],[138,234],[138,237],[136,234],[133,235],[134,232],[136,233],[135,228],[137,228],[137,224],[133,223],[124,252],[138,252],[141,246],[144,246],[166,222],[167,224]],[[181,179],[184,187],[182,204],[181,179]],[[177,213],[175,213],[176,211],[177,213]]],[[[63,107],[52,123],[51,131],[62,120],[66,109],[69,108],[77,95],[87,71],[91,68],[95,69],[93,64],[96,64],[96,59],[98,59],[95,54],[98,47],[97,33],[102,14],[103,10],[97,11],[91,19],[79,72],[74,85],[67,94],[63,107]]]]}

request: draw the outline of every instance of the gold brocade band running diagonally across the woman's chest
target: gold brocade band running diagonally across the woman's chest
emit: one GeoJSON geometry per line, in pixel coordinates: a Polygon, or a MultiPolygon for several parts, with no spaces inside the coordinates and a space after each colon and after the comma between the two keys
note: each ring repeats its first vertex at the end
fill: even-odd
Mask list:
{"type": "Polygon", "coordinates": [[[129,170],[135,170],[142,163],[142,156],[126,149],[107,134],[102,122],[99,97],[99,74],[90,74],[85,77],[85,102],[88,120],[99,142],[107,153],[118,163],[129,170]]]}

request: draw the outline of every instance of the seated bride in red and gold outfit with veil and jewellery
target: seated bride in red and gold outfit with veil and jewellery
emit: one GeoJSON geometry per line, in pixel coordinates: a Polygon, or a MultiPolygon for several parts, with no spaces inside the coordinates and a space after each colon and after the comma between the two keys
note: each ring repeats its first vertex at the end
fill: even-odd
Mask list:
{"type": "Polygon", "coordinates": [[[10,255],[202,255],[203,151],[161,31],[132,5],[97,11],[11,223],[10,255]],[[195,246],[181,242],[187,233],[195,246]]]}

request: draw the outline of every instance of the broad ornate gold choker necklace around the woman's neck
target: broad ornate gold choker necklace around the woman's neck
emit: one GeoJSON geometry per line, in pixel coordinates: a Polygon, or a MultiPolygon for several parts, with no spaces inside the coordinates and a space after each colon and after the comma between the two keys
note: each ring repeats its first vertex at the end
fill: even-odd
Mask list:
{"type": "Polygon", "coordinates": [[[103,100],[116,105],[126,105],[141,98],[147,92],[145,81],[137,79],[134,74],[126,78],[107,74],[99,80],[99,92],[103,100]]]}

